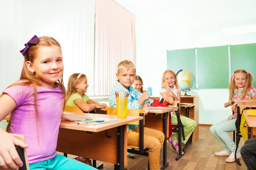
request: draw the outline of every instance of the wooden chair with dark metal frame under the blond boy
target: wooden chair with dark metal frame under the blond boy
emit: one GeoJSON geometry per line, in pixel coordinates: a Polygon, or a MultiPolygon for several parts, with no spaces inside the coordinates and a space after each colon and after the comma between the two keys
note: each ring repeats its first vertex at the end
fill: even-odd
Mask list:
{"type": "MultiPolygon", "coordinates": [[[[110,115],[117,115],[116,108],[105,108],[105,111],[107,111],[107,114],[110,115]]],[[[127,109],[127,116],[143,116],[144,118],[144,111],[142,109],[127,109]]],[[[129,153],[134,153],[138,155],[143,155],[143,156],[148,156],[148,148],[144,147],[144,119],[136,122],[131,122],[129,125],[139,125],[140,128],[140,135],[139,135],[139,146],[134,146],[134,145],[128,145],[127,146],[127,151],[129,153]],[[131,148],[131,149],[129,149],[131,148]],[[139,150],[136,150],[139,149],[139,150]]]]}

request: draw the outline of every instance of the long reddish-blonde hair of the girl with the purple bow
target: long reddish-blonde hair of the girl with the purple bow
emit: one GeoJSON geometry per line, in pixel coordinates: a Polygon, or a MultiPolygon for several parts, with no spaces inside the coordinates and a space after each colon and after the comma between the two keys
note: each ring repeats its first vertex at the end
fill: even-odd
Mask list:
{"type": "MultiPolygon", "coordinates": [[[[30,61],[31,63],[34,62],[35,58],[37,57],[37,52],[38,49],[41,47],[50,47],[50,46],[58,46],[59,48],[61,48],[60,43],[55,40],[52,37],[39,37],[39,42],[37,44],[32,44],[30,45],[29,48],[29,52],[26,54],[26,56],[24,57],[24,61],[23,61],[23,67],[21,70],[21,74],[20,74],[20,80],[26,80],[26,81],[22,81],[22,82],[15,82],[14,84],[10,85],[9,87],[12,87],[14,85],[33,85],[33,89],[34,89],[34,101],[35,101],[35,117],[36,117],[36,121],[37,124],[39,122],[39,115],[38,115],[38,99],[37,99],[37,90],[36,90],[36,86],[41,86],[42,85],[42,80],[40,78],[38,78],[36,76],[35,73],[31,73],[29,71],[29,69],[26,66],[26,62],[30,61]]],[[[60,79],[58,80],[60,86],[61,86],[61,91],[62,91],[62,95],[64,98],[64,104],[66,104],[66,100],[65,100],[65,88],[63,85],[63,75],[61,75],[60,79]]],[[[8,88],[9,88],[8,87],[8,88]]],[[[62,108],[63,110],[64,108],[62,108]]],[[[6,131],[10,133],[11,131],[11,119],[6,127],[6,131]]]]}

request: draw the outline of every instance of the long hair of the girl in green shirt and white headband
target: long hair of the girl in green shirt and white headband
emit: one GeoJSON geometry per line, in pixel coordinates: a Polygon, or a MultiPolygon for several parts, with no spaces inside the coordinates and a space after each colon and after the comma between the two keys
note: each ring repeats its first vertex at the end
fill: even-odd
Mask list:
{"type": "Polygon", "coordinates": [[[76,90],[76,85],[79,84],[84,77],[86,77],[85,74],[81,74],[79,79],[77,79],[79,74],[80,73],[74,73],[68,78],[66,101],[72,94],[78,93],[78,91],[76,90]]]}

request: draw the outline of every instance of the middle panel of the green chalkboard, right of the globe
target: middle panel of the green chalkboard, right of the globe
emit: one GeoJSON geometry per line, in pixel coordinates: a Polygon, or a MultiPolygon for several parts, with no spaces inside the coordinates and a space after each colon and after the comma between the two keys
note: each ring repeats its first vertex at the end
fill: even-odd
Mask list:
{"type": "Polygon", "coordinates": [[[198,48],[198,89],[228,88],[228,46],[198,48]]]}

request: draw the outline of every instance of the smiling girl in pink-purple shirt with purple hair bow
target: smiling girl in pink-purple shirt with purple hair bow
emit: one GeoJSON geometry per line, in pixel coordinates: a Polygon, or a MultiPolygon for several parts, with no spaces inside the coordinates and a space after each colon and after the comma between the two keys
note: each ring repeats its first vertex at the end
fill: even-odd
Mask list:
{"type": "Polygon", "coordinates": [[[25,136],[26,144],[0,128],[0,167],[18,169],[23,163],[15,145],[27,148],[29,169],[95,169],[79,161],[56,154],[61,120],[90,119],[86,116],[62,115],[65,88],[61,46],[52,37],[33,36],[20,51],[24,62],[20,80],[0,96],[0,121],[9,113],[7,132],[25,136]]]}

